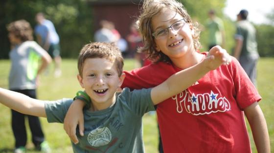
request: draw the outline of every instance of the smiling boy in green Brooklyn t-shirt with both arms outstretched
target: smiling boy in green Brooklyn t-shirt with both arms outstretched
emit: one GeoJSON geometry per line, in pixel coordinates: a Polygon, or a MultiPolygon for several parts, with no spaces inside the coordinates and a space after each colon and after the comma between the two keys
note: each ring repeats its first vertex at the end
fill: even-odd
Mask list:
{"type": "MultiPolygon", "coordinates": [[[[230,57],[221,47],[193,67],[182,70],[160,85],[117,93],[125,74],[123,57],[111,43],[94,42],[81,50],[78,58],[78,81],[91,97],[91,106],[84,109],[85,133],[77,134],[75,153],[144,153],[142,116],[160,103],[187,87],[230,57]]],[[[80,97],[80,96],[79,96],[80,97]]],[[[78,97],[78,98],[79,98],[78,97]]],[[[72,99],[42,101],[0,88],[0,102],[24,114],[47,117],[48,122],[63,123],[72,99]]]]}

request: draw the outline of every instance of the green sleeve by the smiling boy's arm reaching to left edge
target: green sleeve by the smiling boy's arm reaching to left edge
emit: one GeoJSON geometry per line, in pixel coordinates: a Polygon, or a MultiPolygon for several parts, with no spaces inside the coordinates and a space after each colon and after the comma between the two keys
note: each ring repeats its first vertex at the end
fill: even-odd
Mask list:
{"type": "Polygon", "coordinates": [[[73,99],[63,98],[56,101],[46,101],[46,118],[49,123],[57,122],[63,123],[68,108],[73,102],[73,99]]]}

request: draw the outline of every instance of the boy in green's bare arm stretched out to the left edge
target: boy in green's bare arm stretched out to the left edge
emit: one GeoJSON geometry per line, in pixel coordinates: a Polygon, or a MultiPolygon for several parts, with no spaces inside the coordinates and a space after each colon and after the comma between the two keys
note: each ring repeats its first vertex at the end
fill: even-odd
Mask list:
{"type": "Polygon", "coordinates": [[[0,88],[0,103],[27,115],[46,117],[44,101],[0,88]]]}

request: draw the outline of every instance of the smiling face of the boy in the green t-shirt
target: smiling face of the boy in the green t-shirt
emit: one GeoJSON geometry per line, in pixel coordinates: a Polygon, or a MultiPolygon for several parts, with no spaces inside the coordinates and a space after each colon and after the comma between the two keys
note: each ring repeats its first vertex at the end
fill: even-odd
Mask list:
{"type": "Polygon", "coordinates": [[[125,74],[118,76],[114,60],[88,58],[83,75],[77,76],[82,88],[91,97],[94,111],[110,107],[115,102],[115,92],[122,85],[125,74]]]}

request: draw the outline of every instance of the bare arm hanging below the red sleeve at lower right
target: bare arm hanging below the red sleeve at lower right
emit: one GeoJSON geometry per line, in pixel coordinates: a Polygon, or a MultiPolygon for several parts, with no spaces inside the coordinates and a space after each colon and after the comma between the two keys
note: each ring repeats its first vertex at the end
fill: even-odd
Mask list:
{"type": "Polygon", "coordinates": [[[263,112],[257,102],[244,109],[249,121],[257,153],[270,153],[270,139],[263,112]]]}

